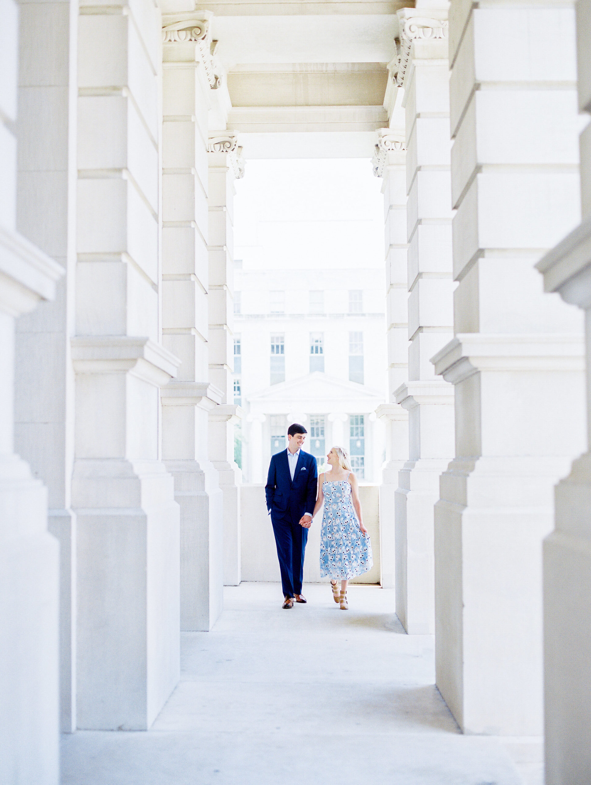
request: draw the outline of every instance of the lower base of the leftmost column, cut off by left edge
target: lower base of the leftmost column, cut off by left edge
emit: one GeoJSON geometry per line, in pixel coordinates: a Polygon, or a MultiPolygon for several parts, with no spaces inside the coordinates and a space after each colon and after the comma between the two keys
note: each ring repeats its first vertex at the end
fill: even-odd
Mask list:
{"type": "Polygon", "coordinates": [[[0,458],[0,781],[59,780],[59,547],[47,491],[16,455],[0,458]]]}

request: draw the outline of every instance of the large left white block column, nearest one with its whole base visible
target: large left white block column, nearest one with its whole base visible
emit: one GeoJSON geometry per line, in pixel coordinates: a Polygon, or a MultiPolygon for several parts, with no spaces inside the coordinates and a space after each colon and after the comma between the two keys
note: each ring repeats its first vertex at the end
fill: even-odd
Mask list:
{"type": "Polygon", "coordinates": [[[179,508],[160,460],[159,10],[81,7],[78,728],[149,728],[179,677],[179,508]]]}

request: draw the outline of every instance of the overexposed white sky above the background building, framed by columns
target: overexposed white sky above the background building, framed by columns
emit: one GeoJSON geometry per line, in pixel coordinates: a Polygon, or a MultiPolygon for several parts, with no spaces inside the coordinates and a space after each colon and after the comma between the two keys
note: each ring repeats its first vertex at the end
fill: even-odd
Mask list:
{"type": "Polygon", "coordinates": [[[381,182],[368,159],[248,161],[236,181],[235,256],[267,269],[381,268],[381,182]]]}

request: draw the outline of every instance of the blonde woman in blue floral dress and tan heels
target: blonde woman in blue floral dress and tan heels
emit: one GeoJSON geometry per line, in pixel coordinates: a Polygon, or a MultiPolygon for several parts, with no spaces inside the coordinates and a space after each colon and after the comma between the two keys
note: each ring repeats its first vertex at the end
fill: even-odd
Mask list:
{"type": "MultiPolygon", "coordinates": [[[[357,478],[351,471],[347,452],[333,447],[327,455],[330,473],[318,478],[314,515],[324,503],[320,535],[320,575],[330,576],[334,601],[348,610],[347,582],[374,565],[370,535],[363,526],[357,478]],[[338,590],[341,580],[341,592],[338,590]]],[[[312,523],[312,521],[311,521],[312,523]]]]}

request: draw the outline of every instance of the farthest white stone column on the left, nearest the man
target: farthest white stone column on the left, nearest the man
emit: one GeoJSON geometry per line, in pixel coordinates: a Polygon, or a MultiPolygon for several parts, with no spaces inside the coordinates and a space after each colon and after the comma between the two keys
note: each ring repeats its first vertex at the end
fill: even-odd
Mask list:
{"type": "Polygon", "coordinates": [[[210,458],[224,495],[224,583],[240,582],[240,483],[234,461],[234,181],[244,175],[242,148],[234,131],[210,131],[207,146],[210,252],[210,381],[221,389],[221,407],[210,411],[210,458]]]}

